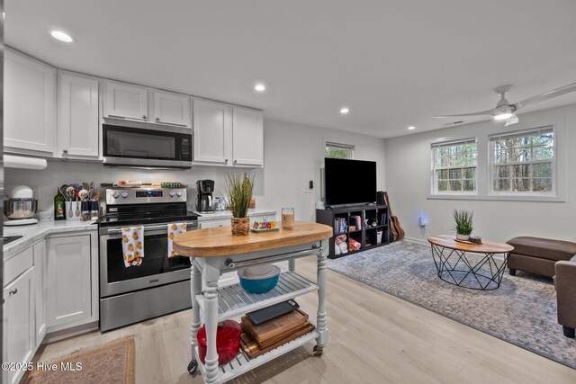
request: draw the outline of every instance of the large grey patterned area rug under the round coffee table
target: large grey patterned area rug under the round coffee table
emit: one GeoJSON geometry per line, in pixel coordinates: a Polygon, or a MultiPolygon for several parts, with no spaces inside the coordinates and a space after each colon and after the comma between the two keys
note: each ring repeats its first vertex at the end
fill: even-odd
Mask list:
{"type": "Polygon", "coordinates": [[[399,241],[328,261],[329,269],[576,369],[576,342],[556,321],[552,279],[518,272],[497,290],[442,281],[429,246],[399,241]]]}

